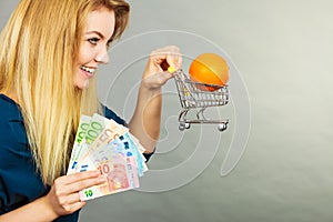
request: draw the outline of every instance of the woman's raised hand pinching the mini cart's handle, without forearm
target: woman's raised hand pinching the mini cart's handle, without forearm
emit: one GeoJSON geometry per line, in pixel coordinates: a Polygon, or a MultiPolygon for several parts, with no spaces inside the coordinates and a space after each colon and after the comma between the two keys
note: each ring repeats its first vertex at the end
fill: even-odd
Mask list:
{"type": "Polygon", "coordinates": [[[182,56],[178,47],[168,46],[152,51],[142,77],[141,87],[149,90],[161,89],[172,78],[172,73],[167,71],[168,67],[173,67],[178,70],[181,68],[181,64],[182,56]]]}

